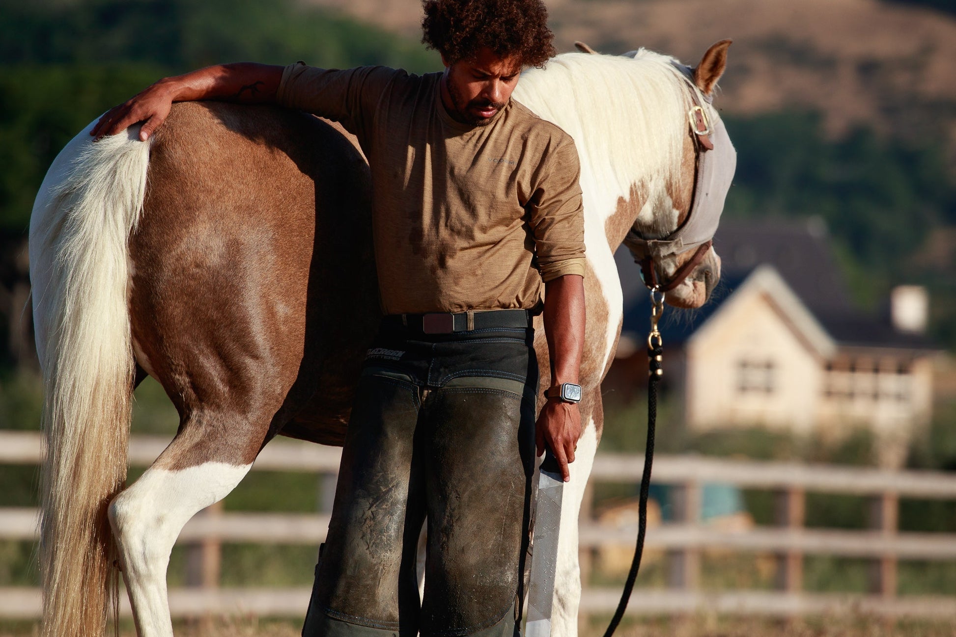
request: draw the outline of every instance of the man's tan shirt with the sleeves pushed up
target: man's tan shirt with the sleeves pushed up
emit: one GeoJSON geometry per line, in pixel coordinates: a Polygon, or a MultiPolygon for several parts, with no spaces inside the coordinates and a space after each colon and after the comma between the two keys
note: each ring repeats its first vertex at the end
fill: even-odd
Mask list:
{"type": "Polygon", "coordinates": [[[533,308],[542,281],[584,274],[574,140],[513,99],[486,126],[458,122],[441,76],[293,64],[277,98],[359,138],[386,314],[533,308]]]}

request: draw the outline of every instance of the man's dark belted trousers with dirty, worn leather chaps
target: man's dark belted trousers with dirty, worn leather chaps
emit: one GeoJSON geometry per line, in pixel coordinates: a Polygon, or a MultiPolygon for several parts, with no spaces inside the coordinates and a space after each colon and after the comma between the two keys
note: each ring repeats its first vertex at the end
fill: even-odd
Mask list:
{"type": "Polygon", "coordinates": [[[424,334],[386,317],[362,368],[303,635],[511,637],[531,515],[532,340],[531,327],[424,334]]]}

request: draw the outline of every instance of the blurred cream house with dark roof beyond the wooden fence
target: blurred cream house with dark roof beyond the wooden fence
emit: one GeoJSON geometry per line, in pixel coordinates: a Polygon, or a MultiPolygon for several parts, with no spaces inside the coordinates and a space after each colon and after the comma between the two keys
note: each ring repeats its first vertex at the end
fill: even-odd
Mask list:
{"type": "MultiPolygon", "coordinates": [[[[711,301],[667,308],[661,323],[665,378],[686,425],[834,438],[866,427],[881,464],[899,466],[932,412],[937,349],[923,335],[924,289],[896,288],[889,320],[860,313],[818,221],[724,222],[714,245],[723,272],[711,301]]],[[[646,377],[637,344],[650,308],[628,256],[619,254],[624,326],[605,391],[633,391],[646,377]]]]}

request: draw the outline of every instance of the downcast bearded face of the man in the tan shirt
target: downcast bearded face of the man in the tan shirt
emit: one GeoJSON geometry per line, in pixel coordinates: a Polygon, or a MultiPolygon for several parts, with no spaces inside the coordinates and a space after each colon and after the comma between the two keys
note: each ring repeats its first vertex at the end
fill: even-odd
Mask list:
{"type": "Polygon", "coordinates": [[[521,63],[516,56],[498,57],[488,47],[482,47],[473,59],[453,64],[445,60],[442,101],[458,121],[472,126],[484,126],[511,99],[518,85],[521,63]]]}

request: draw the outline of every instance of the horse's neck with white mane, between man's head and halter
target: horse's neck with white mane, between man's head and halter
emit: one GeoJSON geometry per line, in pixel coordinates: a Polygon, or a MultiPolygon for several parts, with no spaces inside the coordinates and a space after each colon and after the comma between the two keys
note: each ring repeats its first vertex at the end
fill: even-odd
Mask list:
{"type": "Polygon", "coordinates": [[[515,89],[575,138],[586,224],[599,223],[612,250],[632,226],[663,236],[679,223],[683,81],[654,60],[569,53],[522,75],[515,89]]]}

